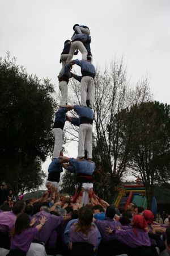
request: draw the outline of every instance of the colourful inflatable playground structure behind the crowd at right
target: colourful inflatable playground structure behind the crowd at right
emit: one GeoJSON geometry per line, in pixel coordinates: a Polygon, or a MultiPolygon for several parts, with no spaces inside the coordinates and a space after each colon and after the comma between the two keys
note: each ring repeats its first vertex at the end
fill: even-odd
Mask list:
{"type": "Polygon", "coordinates": [[[145,196],[145,186],[143,184],[137,185],[124,185],[120,188],[117,198],[114,201],[116,207],[125,207],[130,203],[135,203],[138,206],[147,209],[147,200],[145,196]]]}

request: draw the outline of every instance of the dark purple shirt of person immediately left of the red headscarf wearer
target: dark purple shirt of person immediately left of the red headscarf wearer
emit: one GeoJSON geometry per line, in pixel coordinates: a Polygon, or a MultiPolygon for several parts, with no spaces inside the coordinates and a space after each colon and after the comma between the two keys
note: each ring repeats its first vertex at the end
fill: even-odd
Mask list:
{"type": "Polygon", "coordinates": [[[117,230],[118,227],[121,227],[120,222],[114,221],[112,218],[106,218],[105,220],[95,220],[95,224],[97,228],[99,229],[99,232],[101,234],[101,238],[103,242],[108,242],[111,240],[116,240],[115,233],[107,234],[105,231],[107,228],[111,228],[113,230],[117,230]]]}

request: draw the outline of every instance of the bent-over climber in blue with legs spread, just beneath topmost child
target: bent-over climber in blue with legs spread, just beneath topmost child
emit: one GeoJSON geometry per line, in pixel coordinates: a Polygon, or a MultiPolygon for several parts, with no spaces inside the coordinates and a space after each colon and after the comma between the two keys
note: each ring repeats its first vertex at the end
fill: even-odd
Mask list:
{"type": "Polygon", "coordinates": [[[69,55],[67,57],[66,63],[70,63],[70,61],[73,58],[73,54],[76,49],[78,49],[82,53],[82,60],[87,59],[87,49],[84,46],[84,43],[91,42],[91,36],[88,36],[86,34],[76,34],[71,38],[71,46],[69,55]]]}

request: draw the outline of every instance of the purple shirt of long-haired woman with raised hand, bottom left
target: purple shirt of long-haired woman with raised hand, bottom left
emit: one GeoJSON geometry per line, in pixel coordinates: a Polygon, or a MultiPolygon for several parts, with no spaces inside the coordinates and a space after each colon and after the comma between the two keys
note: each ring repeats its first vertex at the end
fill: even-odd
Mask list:
{"type": "Polygon", "coordinates": [[[39,230],[37,228],[28,228],[24,229],[22,233],[15,235],[11,238],[11,250],[20,249],[22,251],[29,250],[29,247],[34,240],[34,238],[39,233],[39,230]]]}

